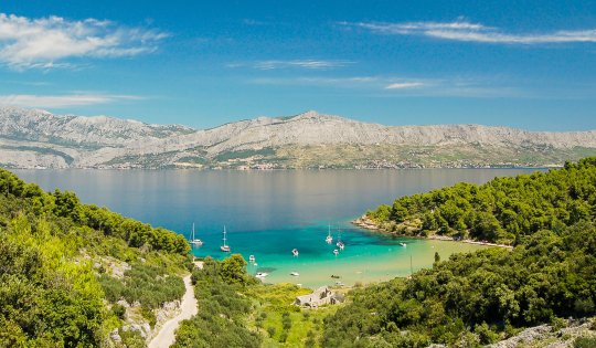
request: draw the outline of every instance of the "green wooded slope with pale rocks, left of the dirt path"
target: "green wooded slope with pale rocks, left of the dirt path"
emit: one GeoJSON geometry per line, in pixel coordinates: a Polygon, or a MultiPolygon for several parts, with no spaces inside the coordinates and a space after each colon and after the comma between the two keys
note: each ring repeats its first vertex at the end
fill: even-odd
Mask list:
{"type": "Polygon", "coordinates": [[[174,232],[0,169],[0,347],[99,347],[111,333],[145,347],[123,327],[135,315],[153,325],[181,297],[189,251],[174,232]]]}

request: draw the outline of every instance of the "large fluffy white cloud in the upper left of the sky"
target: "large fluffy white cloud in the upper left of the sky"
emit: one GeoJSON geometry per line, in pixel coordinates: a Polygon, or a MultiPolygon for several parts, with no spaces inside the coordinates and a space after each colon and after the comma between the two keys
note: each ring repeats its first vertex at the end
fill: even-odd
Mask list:
{"type": "Polygon", "coordinates": [[[157,50],[168,33],[110,21],[30,19],[0,13],[0,63],[17,70],[68,67],[72,57],[134,56],[157,50]]]}

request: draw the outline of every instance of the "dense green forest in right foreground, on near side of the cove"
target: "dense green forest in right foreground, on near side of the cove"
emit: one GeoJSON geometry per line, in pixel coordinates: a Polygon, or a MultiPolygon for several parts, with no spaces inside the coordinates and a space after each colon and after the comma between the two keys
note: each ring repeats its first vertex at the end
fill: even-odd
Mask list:
{"type": "Polygon", "coordinates": [[[596,314],[596,228],[523,238],[513,251],[455,254],[411,280],[355,291],[326,319],[323,347],[476,347],[520,328],[596,314]]]}

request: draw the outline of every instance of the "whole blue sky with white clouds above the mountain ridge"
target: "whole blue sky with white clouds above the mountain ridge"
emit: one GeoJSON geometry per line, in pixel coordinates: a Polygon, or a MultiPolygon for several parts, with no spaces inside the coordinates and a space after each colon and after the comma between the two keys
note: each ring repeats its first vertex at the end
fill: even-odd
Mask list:
{"type": "Polygon", "coordinates": [[[596,129],[596,1],[0,0],[0,105],[596,129]]]}

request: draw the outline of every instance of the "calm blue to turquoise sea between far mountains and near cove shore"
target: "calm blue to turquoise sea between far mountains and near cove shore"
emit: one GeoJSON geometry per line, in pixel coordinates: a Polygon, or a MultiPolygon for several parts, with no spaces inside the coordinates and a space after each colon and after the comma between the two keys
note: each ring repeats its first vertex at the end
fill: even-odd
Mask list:
{"type": "Polygon", "coordinates": [[[481,246],[427,240],[402,240],[352,226],[349,221],[368,209],[395,198],[428,191],[459,181],[486,182],[497,176],[530,169],[427,170],[14,170],[45,190],[77,192],[82,201],[105,205],[124,215],[161,225],[187,236],[193,222],[198,256],[225,257],[220,251],[223,225],[233,253],[255,255],[267,272],[265,282],[304,286],[370,283],[404,276],[433,264],[438,252],[481,246]],[[338,256],[324,242],[327,225],[333,236],[342,231],[345,250],[338,256]],[[398,243],[405,241],[407,246],[398,243]],[[299,250],[294,257],[292,249],[299,250]],[[412,260],[412,267],[411,267],[412,260]],[[290,272],[300,275],[294,277],[290,272]],[[339,275],[333,280],[330,275],[339,275]]]}

